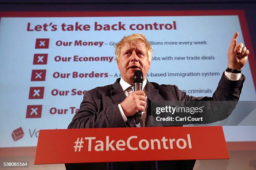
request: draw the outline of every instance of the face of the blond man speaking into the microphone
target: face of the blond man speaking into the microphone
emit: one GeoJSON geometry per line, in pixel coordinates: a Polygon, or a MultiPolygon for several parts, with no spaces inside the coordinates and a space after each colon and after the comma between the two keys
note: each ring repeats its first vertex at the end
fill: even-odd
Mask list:
{"type": "Polygon", "coordinates": [[[143,72],[143,79],[145,80],[150,62],[148,62],[148,54],[145,43],[138,40],[135,45],[126,44],[121,53],[118,62],[118,69],[123,77],[123,80],[129,84],[133,84],[133,74],[135,70],[143,72]]]}

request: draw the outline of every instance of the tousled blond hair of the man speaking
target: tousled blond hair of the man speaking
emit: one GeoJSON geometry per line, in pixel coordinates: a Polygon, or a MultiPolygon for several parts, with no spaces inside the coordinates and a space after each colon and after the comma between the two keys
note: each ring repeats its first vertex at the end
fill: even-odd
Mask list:
{"type": "Polygon", "coordinates": [[[141,40],[145,43],[146,50],[147,50],[147,57],[148,62],[151,62],[152,54],[153,54],[153,47],[149,44],[148,40],[146,39],[146,36],[144,34],[131,34],[128,36],[124,36],[122,40],[118,42],[118,44],[115,45],[115,61],[118,63],[120,59],[120,54],[123,49],[123,47],[126,44],[134,45],[136,41],[141,40]]]}

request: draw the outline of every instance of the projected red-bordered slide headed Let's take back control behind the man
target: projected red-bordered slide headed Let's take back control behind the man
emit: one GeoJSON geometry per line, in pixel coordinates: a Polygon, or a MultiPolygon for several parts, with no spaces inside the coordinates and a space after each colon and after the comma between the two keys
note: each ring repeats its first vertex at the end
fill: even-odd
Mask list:
{"type": "MultiPolygon", "coordinates": [[[[238,31],[250,50],[240,101],[256,101],[245,23],[239,10],[0,15],[0,148],[36,146],[39,130],[67,129],[84,92],[120,77],[114,46],[133,33],[145,34],[154,48],[148,81],[199,97],[218,86],[238,31]]],[[[251,110],[238,126],[224,126],[226,141],[256,141],[255,120],[251,110]]]]}

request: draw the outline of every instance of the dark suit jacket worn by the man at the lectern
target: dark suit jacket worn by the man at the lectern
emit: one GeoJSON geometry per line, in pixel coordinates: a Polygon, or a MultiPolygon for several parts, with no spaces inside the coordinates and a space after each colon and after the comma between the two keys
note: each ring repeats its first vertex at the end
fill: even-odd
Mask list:
{"type": "MultiPolygon", "coordinates": [[[[186,95],[178,89],[176,85],[159,85],[155,82],[146,84],[148,96],[148,110],[146,118],[146,127],[161,126],[159,122],[154,121],[151,115],[151,101],[227,101],[239,99],[245,77],[242,75],[241,80],[231,81],[225,78],[223,74],[217,89],[212,97],[193,97],[186,95]]],[[[118,109],[118,104],[125,100],[125,94],[119,84],[120,78],[112,85],[96,87],[84,94],[80,109],[68,128],[120,128],[136,127],[133,117],[127,117],[127,122],[118,109]]],[[[232,111],[232,110],[231,110],[232,111]]],[[[215,117],[215,120],[223,120],[231,112],[225,115],[215,117]]],[[[66,164],[67,170],[70,169],[106,169],[106,170],[190,170],[193,169],[195,160],[181,161],[143,161],[143,162],[121,162],[121,163],[83,163],[83,164],[66,164]]]]}

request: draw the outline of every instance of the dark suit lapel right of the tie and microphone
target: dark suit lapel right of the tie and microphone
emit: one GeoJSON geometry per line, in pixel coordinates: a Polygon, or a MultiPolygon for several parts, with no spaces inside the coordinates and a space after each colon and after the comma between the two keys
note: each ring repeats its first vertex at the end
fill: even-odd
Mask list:
{"type": "Polygon", "coordinates": [[[151,101],[158,101],[159,100],[159,93],[158,89],[155,88],[155,85],[151,84],[147,81],[147,95],[148,95],[148,108],[147,108],[147,119],[146,119],[146,127],[150,126],[152,124],[152,121],[154,120],[153,115],[151,115],[151,101]]]}

